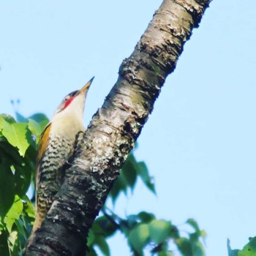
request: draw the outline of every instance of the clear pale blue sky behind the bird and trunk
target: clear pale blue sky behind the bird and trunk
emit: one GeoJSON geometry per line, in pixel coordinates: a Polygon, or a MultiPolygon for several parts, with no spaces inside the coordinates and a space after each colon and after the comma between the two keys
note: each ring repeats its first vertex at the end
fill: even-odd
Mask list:
{"type": "MultiPolygon", "coordinates": [[[[95,75],[85,122],[102,105],[162,1],[1,1],[0,112],[52,115],[95,75]]],[[[241,249],[255,223],[255,1],[213,0],[165,83],[138,140],[136,157],[154,176],[121,197],[123,214],[152,211],[206,230],[207,255],[241,249]]],[[[181,226],[182,227],[182,226],[181,226]]],[[[124,238],[113,255],[127,252],[124,238]]]]}

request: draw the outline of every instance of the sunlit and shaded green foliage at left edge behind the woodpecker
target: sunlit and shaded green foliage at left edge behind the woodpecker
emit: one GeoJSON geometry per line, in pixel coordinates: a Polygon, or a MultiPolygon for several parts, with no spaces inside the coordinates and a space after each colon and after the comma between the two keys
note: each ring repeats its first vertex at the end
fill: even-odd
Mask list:
{"type": "Polygon", "coordinates": [[[0,115],[0,255],[19,255],[31,233],[37,143],[48,119],[37,114],[21,122],[0,115]],[[33,190],[33,189],[32,189],[33,190]]]}

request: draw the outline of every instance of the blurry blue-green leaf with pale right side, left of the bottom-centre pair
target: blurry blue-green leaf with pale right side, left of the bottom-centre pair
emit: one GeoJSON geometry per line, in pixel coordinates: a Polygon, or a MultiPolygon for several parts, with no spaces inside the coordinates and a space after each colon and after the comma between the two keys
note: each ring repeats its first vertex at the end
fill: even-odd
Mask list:
{"type": "Polygon", "coordinates": [[[129,244],[139,255],[143,255],[143,247],[149,241],[149,235],[149,227],[147,224],[140,224],[129,232],[129,244]]]}

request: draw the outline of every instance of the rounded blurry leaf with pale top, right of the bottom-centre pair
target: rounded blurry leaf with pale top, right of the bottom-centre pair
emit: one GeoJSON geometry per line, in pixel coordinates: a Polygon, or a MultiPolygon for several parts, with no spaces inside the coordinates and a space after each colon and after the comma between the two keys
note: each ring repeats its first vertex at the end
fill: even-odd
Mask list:
{"type": "Polygon", "coordinates": [[[167,222],[165,220],[154,219],[149,223],[148,227],[151,240],[154,241],[156,244],[160,244],[170,236],[170,229],[172,225],[170,224],[170,222],[167,222]]]}

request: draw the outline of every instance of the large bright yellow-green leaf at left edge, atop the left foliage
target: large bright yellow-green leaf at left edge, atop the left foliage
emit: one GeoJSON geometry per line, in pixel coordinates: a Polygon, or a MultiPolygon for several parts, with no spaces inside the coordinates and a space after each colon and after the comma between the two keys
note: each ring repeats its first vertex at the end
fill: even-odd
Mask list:
{"type": "Polygon", "coordinates": [[[9,124],[0,116],[0,129],[12,146],[16,146],[21,156],[24,157],[26,149],[29,148],[28,125],[23,123],[9,124]]]}

